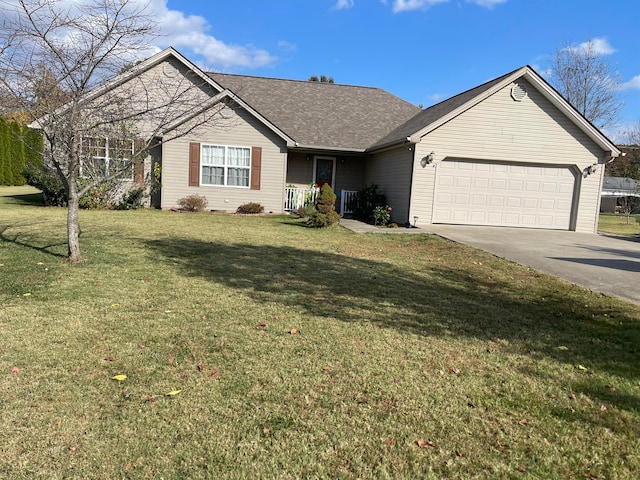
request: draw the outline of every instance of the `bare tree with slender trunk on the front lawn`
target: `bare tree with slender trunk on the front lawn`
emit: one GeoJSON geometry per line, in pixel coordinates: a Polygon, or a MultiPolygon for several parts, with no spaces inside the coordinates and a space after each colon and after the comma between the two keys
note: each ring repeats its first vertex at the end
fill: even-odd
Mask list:
{"type": "Polygon", "coordinates": [[[156,34],[138,0],[0,0],[0,6],[2,91],[44,134],[45,160],[68,197],[68,258],[79,262],[80,197],[130,176],[150,148],[215,121],[224,104],[198,72],[175,65],[158,75],[136,64],[156,34]],[[112,148],[110,165],[91,161],[112,148]]]}

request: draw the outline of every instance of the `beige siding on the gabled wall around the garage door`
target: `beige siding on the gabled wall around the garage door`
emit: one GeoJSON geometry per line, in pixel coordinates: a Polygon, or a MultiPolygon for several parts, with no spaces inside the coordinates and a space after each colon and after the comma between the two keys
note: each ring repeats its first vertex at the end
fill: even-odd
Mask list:
{"type": "MultiPolygon", "coordinates": [[[[604,154],[584,132],[531,84],[518,80],[528,95],[516,102],[508,85],[458,117],[425,135],[416,145],[411,216],[418,224],[431,223],[434,179],[445,158],[479,161],[553,164],[578,172],[602,163],[604,154]],[[420,160],[430,152],[435,162],[426,167],[420,160]]],[[[599,171],[603,166],[598,167],[599,171]]],[[[596,228],[601,174],[577,175],[573,225],[577,231],[596,228]],[[576,210],[577,209],[577,210],[576,210]]]]}

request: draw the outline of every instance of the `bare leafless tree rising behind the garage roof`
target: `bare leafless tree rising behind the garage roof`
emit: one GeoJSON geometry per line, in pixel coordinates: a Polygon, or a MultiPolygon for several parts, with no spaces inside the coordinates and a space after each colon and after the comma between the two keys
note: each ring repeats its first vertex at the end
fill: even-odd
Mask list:
{"type": "Polygon", "coordinates": [[[624,105],[619,97],[620,77],[599,51],[595,39],[556,50],[551,83],[598,128],[612,125],[624,105]]]}

